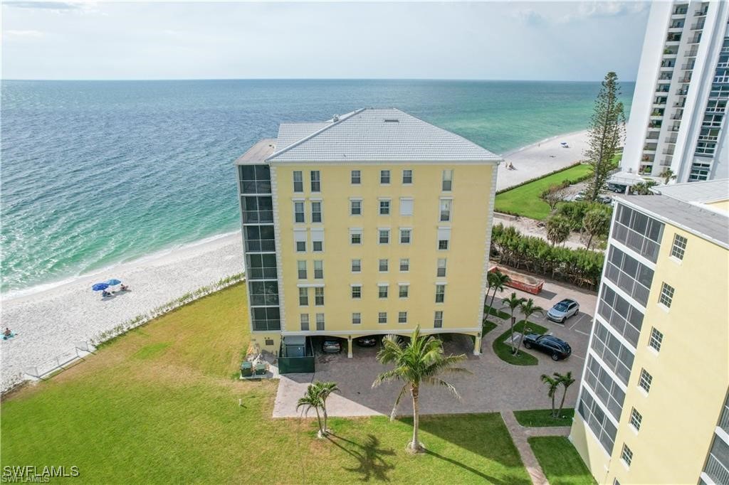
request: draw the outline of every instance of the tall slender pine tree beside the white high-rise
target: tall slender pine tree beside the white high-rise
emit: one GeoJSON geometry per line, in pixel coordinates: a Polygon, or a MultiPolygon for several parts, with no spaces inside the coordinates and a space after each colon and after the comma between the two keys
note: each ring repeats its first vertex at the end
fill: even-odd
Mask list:
{"type": "Polygon", "coordinates": [[[623,103],[617,100],[620,84],[617,74],[610,71],[602,82],[590,118],[589,148],[585,150],[586,161],[592,167],[592,174],[585,191],[588,200],[596,200],[604,189],[612,170],[612,159],[623,143],[625,133],[625,112],[623,103]]]}

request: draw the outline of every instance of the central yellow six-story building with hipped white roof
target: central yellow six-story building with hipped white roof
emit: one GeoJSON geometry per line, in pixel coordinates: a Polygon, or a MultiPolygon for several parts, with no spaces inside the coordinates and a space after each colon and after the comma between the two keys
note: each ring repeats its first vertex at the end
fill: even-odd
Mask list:
{"type": "Polygon", "coordinates": [[[499,157],[397,109],[284,123],[236,161],[252,339],[475,337],[499,157]]]}

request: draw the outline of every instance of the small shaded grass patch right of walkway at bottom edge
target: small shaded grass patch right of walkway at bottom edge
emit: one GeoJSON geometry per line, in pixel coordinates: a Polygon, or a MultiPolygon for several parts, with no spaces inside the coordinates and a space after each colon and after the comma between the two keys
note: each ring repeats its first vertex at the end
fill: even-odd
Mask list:
{"type": "Polygon", "coordinates": [[[572,443],[564,436],[529,438],[529,445],[551,485],[596,483],[572,443]]]}

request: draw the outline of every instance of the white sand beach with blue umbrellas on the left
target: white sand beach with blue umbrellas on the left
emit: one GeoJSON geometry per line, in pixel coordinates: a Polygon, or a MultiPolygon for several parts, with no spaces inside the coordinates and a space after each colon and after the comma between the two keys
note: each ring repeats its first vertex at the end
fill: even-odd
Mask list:
{"type": "Polygon", "coordinates": [[[28,366],[39,366],[74,342],[149,312],[190,291],[243,272],[241,233],[183,246],[117,267],[84,275],[40,293],[2,300],[2,328],[17,336],[0,341],[1,389],[28,366]],[[101,299],[91,291],[99,281],[117,278],[131,291],[101,299]]]}

